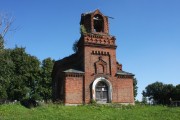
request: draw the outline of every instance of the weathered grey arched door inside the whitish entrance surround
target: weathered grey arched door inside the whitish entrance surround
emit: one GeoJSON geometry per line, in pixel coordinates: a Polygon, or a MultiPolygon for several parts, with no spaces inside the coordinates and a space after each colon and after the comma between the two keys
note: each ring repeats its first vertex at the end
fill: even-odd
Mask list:
{"type": "Polygon", "coordinates": [[[108,86],[105,82],[103,81],[99,81],[96,84],[96,101],[97,102],[105,102],[107,103],[109,100],[109,96],[108,96],[108,86]]]}

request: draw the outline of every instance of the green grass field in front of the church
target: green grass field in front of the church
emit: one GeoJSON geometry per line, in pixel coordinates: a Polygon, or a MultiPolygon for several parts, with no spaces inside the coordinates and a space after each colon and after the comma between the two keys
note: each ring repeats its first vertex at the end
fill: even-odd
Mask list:
{"type": "Polygon", "coordinates": [[[0,105],[0,120],[180,120],[180,107],[44,104],[28,109],[4,104],[0,105]]]}

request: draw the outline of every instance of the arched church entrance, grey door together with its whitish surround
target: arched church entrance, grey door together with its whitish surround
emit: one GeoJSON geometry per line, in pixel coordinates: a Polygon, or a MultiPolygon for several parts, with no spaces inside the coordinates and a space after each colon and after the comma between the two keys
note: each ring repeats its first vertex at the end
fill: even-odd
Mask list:
{"type": "Polygon", "coordinates": [[[92,85],[93,100],[108,103],[112,100],[112,85],[103,77],[97,78],[92,85]]]}

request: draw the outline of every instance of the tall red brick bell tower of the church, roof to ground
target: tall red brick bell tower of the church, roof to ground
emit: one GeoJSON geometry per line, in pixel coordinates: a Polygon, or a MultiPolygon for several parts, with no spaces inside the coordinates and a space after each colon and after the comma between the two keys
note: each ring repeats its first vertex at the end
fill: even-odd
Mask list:
{"type": "MultiPolygon", "coordinates": [[[[89,85],[95,79],[106,78],[110,85],[112,79],[117,73],[116,62],[116,38],[109,34],[108,17],[104,16],[98,9],[94,12],[81,14],[81,37],[78,42],[78,50],[83,56],[83,69],[85,74],[84,95],[85,102],[90,101],[90,96],[94,96],[95,87],[92,93],[89,92],[89,85]],[[86,92],[87,91],[87,92],[86,92]]],[[[112,90],[108,87],[108,99],[112,100],[112,90]]]]}

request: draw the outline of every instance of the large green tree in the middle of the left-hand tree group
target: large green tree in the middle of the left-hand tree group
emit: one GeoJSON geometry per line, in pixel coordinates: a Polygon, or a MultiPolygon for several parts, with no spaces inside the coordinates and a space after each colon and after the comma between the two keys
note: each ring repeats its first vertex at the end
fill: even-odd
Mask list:
{"type": "Polygon", "coordinates": [[[40,61],[25,52],[25,48],[16,47],[11,51],[14,63],[13,78],[8,87],[8,97],[11,100],[31,98],[37,92],[40,74],[40,61]]]}

